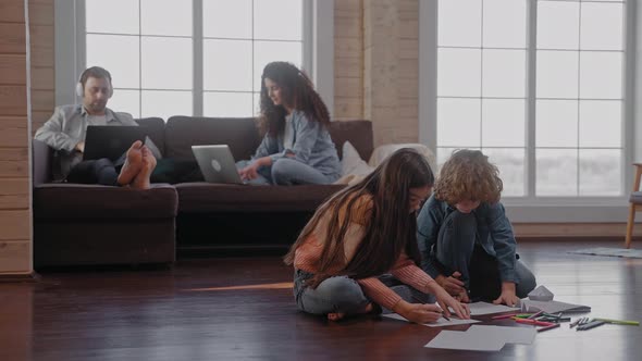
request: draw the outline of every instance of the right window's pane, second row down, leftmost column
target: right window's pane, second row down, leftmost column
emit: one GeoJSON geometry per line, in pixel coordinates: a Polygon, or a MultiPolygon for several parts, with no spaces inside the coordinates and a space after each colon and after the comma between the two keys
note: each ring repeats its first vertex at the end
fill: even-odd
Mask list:
{"type": "Polygon", "coordinates": [[[479,97],[481,95],[481,50],[437,50],[437,95],[479,97]]]}

